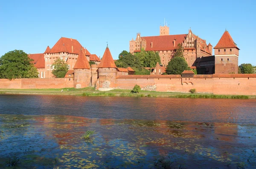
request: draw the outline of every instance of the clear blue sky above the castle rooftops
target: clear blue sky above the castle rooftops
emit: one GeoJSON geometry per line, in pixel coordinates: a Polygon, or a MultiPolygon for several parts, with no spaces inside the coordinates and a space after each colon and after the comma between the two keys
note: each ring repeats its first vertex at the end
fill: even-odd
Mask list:
{"type": "Polygon", "coordinates": [[[213,47],[227,28],[240,48],[239,65],[256,65],[255,8],[255,0],[1,0],[0,56],[15,49],[43,53],[68,37],[98,56],[108,41],[118,59],[137,32],[159,35],[166,18],[170,34],[187,34],[191,27],[213,47]]]}

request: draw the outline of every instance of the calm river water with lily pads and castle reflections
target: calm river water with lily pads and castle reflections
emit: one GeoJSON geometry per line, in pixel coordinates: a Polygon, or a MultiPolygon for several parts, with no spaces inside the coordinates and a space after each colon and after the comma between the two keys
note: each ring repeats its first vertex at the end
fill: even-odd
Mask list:
{"type": "Polygon", "coordinates": [[[255,140],[256,100],[0,95],[0,168],[256,168],[255,140]]]}

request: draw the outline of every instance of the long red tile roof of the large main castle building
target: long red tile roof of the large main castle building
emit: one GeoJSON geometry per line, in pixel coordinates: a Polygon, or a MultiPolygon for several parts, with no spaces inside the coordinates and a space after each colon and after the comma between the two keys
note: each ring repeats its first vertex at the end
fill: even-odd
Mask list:
{"type": "Polygon", "coordinates": [[[182,44],[186,38],[186,34],[180,35],[165,35],[165,36],[154,36],[154,37],[141,37],[147,42],[145,51],[165,51],[165,50],[175,50],[177,45],[182,44]],[[173,44],[174,39],[176,39],[175,46],[173,44]],[[151,48],[151,42],[152,48],[151,48]]]}

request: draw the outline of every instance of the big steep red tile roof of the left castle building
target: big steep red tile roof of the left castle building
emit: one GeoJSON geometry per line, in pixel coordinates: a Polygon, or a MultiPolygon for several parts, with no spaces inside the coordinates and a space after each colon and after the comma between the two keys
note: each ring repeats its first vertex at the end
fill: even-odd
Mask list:
{"type": "MultiPolygon", "coordinates": [[[[76,39],[61,37],[57,43],[52,47],[49,53],[68,52],[70,54],[79,54],[81,44],[76,39]],[[64,44],[64,45],[63,45],[64,44]],[[73,46],[73,51],[72,51],[73,46]]],[[[87,53],[87,52],[86,52],[87,53]]],[[[90,53],[89,53],[90,54],[90,53]]]]}

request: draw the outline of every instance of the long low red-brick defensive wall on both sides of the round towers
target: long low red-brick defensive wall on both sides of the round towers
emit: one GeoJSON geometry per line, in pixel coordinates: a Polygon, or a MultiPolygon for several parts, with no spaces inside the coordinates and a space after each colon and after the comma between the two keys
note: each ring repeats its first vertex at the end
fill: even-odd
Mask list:
{"type": "MultiPolygon", "coordinates": [[[[213,75],[120,75],[116,78],[100,81],[102,87],[132,89],[140,85],[143,90],[160,92],[188,92],[195,88],[200,93],[227,95],[256,95],[256,74],[213,74],[213,75]],[[108,81],[108,82],[107,82],[108,81]]],[[[99,79],[97,80],[99,83],[99,79]]],[[[98,85],[96,85],[98,86],[98,85]]],[[[70,78],[51,79],[0,79],[0,88],[12,89],[45,89],[74,87],[70,78]]]]}

